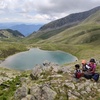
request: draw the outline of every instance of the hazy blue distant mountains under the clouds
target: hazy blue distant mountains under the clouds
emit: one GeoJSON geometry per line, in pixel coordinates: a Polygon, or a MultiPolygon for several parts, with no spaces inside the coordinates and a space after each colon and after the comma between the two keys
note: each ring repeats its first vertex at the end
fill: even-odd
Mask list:
{"type": "Polygon", "coordinates": [[[17,30],[22,33],[24,36],[28,36],[29,34],[37,31],[42,25],[35,24],[19,24],[19,23],[0,23],[0,29],[12,29],[17,30]]]}

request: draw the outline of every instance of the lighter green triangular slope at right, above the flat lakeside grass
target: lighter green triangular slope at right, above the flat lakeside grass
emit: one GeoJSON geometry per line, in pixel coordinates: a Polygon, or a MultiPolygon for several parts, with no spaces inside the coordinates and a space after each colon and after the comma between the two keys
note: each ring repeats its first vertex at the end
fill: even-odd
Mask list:
{"type": "Polygon", "coordinates": [[[46,41],[65,44],[100,43],[100,11],[80,25],[66,29],[46,41]]]}

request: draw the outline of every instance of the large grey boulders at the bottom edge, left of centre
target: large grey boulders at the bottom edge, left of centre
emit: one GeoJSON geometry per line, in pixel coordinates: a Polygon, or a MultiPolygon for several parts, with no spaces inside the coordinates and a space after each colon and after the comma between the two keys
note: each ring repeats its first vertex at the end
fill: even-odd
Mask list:
{"type": "Polygon", "coordinates": [[[20,87],[16,90],[14,100],[54,100],[57,93],[46,85],[33,85],[31,88],[20,87]]]}

